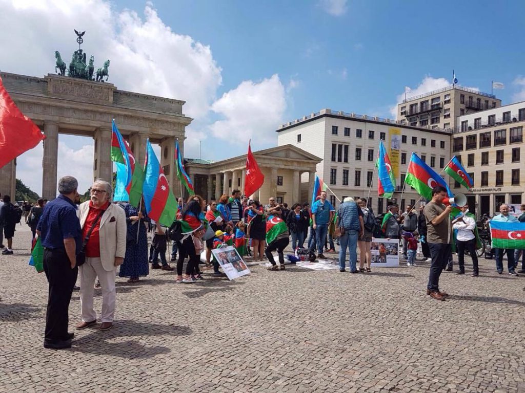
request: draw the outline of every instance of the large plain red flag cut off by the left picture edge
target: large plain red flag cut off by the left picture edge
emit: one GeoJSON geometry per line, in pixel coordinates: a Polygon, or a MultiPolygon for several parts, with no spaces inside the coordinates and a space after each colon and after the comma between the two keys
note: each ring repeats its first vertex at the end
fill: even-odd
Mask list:
{"type": "Polygon", "coordinates": [[[40,128],[20,112],[0,78],[0,168],[45,138],[40,128]]]}

